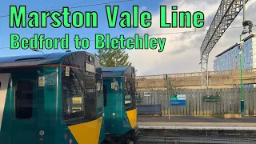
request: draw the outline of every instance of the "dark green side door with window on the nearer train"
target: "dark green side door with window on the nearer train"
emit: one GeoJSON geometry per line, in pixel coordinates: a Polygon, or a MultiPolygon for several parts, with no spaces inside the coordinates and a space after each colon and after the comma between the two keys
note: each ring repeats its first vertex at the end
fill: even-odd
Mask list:
{"type": "MultiPolygon", "coordinates": [[[[37,73],[12,74],[11,144],[38,143],[37,73]]],[[[41,132],[42,134],[42,132],[41,132]]]]}

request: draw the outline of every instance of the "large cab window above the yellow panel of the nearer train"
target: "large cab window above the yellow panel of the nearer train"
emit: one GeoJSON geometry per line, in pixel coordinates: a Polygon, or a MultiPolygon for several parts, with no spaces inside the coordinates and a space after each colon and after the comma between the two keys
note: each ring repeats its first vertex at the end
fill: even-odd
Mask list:
{"type": "MultiPolygon", "coordinates": [[[[81,75],[81,74],[80,74],[81,75]]],[[[84,92],[82,78],[70,70],[70,76],[62,74],[63,118],[70,120],[84,116],[84,92]]]]}

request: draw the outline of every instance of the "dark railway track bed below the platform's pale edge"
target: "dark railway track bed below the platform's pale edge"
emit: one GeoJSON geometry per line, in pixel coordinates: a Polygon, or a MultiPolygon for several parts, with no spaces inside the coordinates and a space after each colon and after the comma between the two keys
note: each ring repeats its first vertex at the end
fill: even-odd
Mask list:
{"type": "Polygon", "coordinates": [[[254,130],[141,130],[140,144],[253,144],[254,130]]]}

